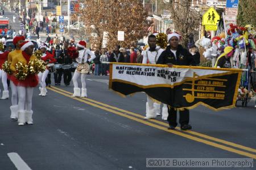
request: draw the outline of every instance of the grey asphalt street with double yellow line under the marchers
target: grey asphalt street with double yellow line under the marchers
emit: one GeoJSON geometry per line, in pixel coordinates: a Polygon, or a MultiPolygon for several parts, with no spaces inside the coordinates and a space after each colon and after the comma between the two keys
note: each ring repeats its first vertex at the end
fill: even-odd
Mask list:
{"type": "Polygon", "coordinates": [[[0,100],[0,169],[147,169],[146,158],[256,159],[255,101],[220,112],[200,106],[191,110],[192,130],[168,130],[160,117],[143,119],[144,93],[123,98],[109,90],[108,79],[88,75],[88,98],[71,97],[72,82],[53,86],[53,78],[47,96],[34,88],[34,125],[11,121],[11,100],[0,100]]]}

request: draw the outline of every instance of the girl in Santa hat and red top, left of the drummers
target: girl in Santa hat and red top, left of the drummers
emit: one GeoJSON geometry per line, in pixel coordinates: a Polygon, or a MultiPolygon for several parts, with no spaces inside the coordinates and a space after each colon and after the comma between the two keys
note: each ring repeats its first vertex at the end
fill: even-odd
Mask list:
{"type": "MultiPolygon", "coordinates": [[[[46,49],[47,49],[47,45],[46,44],[40,44],[39,46],[39,49],[41,50],[41,52],[43,53],[42,54],[42,57],[41,59],[47,63],[47,65],[49,63],[55,63],[56,62],[56,59],[54,58],[54,50],[53,50],[53,54],[49,53],[46,49]]],[[[47,75],[49,73],[49,69],[47,67],[47,69],[43,72],[43,73],[39,73],[39,82],[40,82],[40,87],[39,87],[39,90],[40,90],[40,94],[39,96],[46,96],[47,94],[47,90],[46,90],[46,78],[47,78],[47,75]]]]}

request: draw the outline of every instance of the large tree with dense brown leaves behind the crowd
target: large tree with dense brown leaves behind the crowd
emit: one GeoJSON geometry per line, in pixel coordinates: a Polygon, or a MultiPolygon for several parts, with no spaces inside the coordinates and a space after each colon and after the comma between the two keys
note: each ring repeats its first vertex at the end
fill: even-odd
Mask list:
{"type": "Polygon", "coordinates": [[[125,32],[123,46],[131,45],[144,35],[150,23],[146,20],[147,13],[138,0],[86,0],[81,9],[81,20],[85,23],[85,32],[89,33],[93,48],[102,46],[103,32],[108,32],[108,48],[113,49],[120,44],[117,32],[125,32]]]}

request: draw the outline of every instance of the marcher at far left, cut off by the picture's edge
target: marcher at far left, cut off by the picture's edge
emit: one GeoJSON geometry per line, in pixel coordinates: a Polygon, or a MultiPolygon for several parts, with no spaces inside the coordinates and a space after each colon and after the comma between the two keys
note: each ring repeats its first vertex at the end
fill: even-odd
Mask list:
{"type": "MultiPolygon", "coordinates": [[[[7,60],[9,51],[3,52],[5,47],[3,42],[0,42],[0,78],[2,77],[2,84],[3,84],[3,95],[1,99],[8,99],[9,98],[9,91],[7,85],[7,73],[2,70],[2,64],[7,60]]],[[[0,90],[1,92],[1,90],[0,90]]]]}

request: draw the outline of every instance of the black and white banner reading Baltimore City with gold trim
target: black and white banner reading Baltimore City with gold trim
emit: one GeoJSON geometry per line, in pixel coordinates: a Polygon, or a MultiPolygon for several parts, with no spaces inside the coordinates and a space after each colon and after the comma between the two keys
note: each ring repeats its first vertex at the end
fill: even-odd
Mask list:
{"type": "Polygon", "coordinates": [[[122,96],[146,92],[178,109],[204,105],[214,111],[236,104],[241,69],[110,63],[109,88],[122,96]]]}

